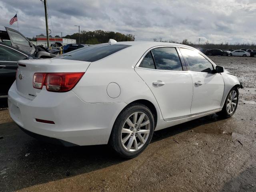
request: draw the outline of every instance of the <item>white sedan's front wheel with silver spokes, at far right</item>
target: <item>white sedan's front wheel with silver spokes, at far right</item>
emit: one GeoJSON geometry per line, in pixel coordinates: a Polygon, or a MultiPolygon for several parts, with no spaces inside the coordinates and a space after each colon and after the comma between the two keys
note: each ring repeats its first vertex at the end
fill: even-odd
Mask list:
{"type": "Polygon", "coordinates": [[[228,93],[222,110],[216,114],[222,118],[230,118],[232,115],[234,115],[238,105],[238,95],[238,89],[233,87],[228,93]]]}

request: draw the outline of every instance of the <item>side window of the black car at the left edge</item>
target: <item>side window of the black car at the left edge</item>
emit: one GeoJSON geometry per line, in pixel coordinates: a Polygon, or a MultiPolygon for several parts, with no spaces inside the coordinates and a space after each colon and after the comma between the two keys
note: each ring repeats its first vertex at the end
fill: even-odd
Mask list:
{"type": "Polygon", "coordinates": [[[24,54],[8,48],[6,46],[0,46],[0,61],[14,61],[17,62],[18,60],[26,59],[24,54]]]}

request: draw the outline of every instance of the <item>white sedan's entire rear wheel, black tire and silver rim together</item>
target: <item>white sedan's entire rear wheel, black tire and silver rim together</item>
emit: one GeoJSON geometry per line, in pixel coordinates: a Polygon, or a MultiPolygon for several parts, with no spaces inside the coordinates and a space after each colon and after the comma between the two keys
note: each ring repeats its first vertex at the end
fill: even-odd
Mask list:
{"type": "Polygon", "coordinates": [[[110,146],[123,158],[138,156],[150,143],[154,133],[154,117],[150,109],[135,103],[116,118],[110,136],[110,146]]]}

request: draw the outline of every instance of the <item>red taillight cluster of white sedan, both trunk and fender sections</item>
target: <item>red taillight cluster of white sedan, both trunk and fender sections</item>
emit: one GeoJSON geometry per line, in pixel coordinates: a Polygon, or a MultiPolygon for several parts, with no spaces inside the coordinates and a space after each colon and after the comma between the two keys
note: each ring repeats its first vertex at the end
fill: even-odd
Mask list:
{"type": "Polygon", "coordinates": [[[35,73],[33,86],[42,89],[45,85],[46,90],[52,92],[67,92],[74,88],[82,78],[84,72],[75,73],[35,73]]]}

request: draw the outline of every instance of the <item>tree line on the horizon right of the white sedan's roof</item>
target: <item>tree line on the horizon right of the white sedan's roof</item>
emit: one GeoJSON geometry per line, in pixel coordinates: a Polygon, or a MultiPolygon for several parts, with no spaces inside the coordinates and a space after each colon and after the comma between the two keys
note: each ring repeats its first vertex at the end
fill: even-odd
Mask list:
{"type": "Polygon", "coordinates": [[[202,49],[220,49],[220,50],[238,50],[238,49],[252,49],[256,50],[256,44],[255,43],[240,43],[235,42],[233,44],[229,42],[225,43],[210,43],[209,41],[206,41],[204,43],[201,43],[198,45],[198,43],[192,43],[188,41],[187,39],[182,40],[182,42],[174,41],[174,40],[162,40],[162,38],[154,39],[154,41],[158,42],[170,42],[170,43],[178,43],[178,44],[184,44],[188,46],[192,46],[194,48],[202,48],[202,49]]]}

